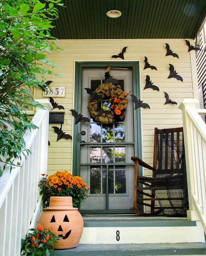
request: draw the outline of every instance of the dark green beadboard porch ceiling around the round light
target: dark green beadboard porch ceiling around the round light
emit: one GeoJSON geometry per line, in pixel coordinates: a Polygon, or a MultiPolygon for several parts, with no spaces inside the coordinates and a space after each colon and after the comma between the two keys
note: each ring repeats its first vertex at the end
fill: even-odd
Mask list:
{"type": "Polygon", "coordinates": [[[194,38],[206,0],[62,0],[51,34],[58,39],[194,38]],[[122,16],[109,18],[109,10],[122,16]]]}

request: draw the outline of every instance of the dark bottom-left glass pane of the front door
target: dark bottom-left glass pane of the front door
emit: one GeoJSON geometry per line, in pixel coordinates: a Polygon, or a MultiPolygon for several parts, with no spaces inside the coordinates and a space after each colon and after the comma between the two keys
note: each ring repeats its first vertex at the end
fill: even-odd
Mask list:
{"type": "Polygon", "coordinates": [[[101,170],[90,170],[90,194],[101,194],[101,170]]]}

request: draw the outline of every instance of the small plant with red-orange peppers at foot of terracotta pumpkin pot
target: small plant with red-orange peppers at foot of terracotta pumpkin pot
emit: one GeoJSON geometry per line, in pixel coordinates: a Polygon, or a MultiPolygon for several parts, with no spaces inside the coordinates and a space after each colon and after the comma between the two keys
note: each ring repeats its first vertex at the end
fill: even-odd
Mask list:
{"type": "Polygon", "coordinates": [[[57,237],[49,229],[43,226],[29,229],[29,233],[21,246],[21,255],[27,252],[32,253],[32,256],[50,256],[56,255],[54,251],[54,244],[58,242],[60,237],[57,237]]]}

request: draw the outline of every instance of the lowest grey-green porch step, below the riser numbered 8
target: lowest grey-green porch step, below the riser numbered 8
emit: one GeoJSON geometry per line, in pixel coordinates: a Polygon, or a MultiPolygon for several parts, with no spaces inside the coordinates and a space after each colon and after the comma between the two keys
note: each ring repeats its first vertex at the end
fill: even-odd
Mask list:
{"type": "Polygon", "coordinates": [[[206,243],[160,244],[82,244],[68,250],[56,250],[57,256],[165,256],[206,255],[206,243]]]}

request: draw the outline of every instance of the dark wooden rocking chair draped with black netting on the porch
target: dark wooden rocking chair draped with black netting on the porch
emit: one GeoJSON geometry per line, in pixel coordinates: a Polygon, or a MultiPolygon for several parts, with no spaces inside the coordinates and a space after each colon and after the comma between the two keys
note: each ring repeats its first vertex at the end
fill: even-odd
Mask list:
{"type": "Polygon", "coordinates": [[[155,128],[153,167],[138,157],[131,159],[135,162],[134,206],[131,210],[143,216],[160,212],[167,216],[185,216],[188,190],[183,128],[155,128]],[[139,176],[139,165],[152,170],[152,177],[139,176]],[[148,206],[150,212],[140,211],[140,205],[148,206]]]}

